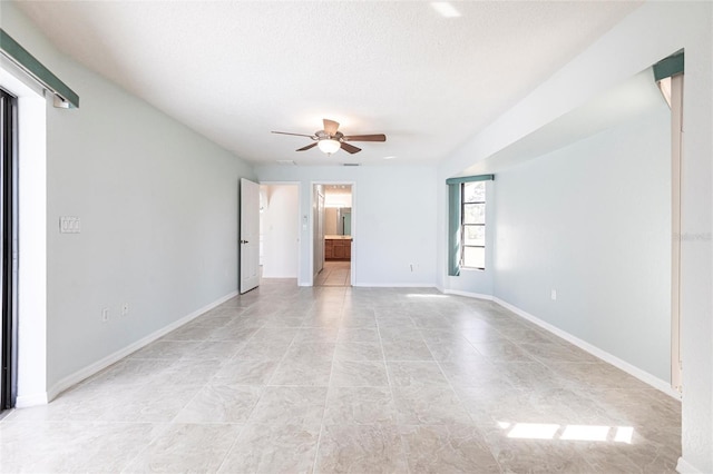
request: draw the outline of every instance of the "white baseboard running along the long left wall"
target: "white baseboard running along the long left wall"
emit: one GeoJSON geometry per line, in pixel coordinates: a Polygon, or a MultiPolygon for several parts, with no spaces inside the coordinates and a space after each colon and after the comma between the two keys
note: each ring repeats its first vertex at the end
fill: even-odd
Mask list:
{"type": "Polygon", "coordinates": [[[47,404],[49,402],[51,402],[52,399],[55,399],[60,393],[65,392],[67,388],[77,385],[78,383],[80,383],[81,381],[95,375],[96,373],[104,371],[105,368],[107,368],[108,366],[110,366],[111,364],[116,364],[117,362],[121,361],[124,357],[135,353],[136,350],[140,349],[141,347],[147,346],[148,344],[153,343],[154,340],[164,337],[166,334],[170,333],[172,330],[175,330],[177,328],[179,328],[180,326],[183,326],[186,323],[189,323],[191,320],[195,319],[196,317],[201,316],[202,314],[215,308],[216,306],[222,305],[223,303],[227,302],[228,299],[233,298],[237,296],[237,292],[231,292],[229,294],[216,299],[213,303],[207,304],[206,306],[196,309],[195,312],[182,317],[178,320],[175,320],[173,323],[170,323],[167,326],[162,327],[160,329],[149,334],[146,337],[140,338],[139,340],[129,344],[128,346],[113,353],[109,354],[108,356],[104,357],[100,361],[95,362],[91,365],[88,365],[77,372],[75,372],[71,375],[68,375],[67,377],[60,379],[59,382],[57,382],[50,389],[47,391],[47,394],[43,394],[43,401],[40,402],[40,398],[38,397],[37,399],[25,399],[27,397],[23,397],[22,401],[22,405],[20,405],[20,399],[18,397],[18,401],[16,403],[17,407],[26,407],[26,406],[32,406],[32,405],[42,405],[42,404],[47,404]],[[32,403],[31,405],[28,404],[28,402],[36,402],[32,403]]]}

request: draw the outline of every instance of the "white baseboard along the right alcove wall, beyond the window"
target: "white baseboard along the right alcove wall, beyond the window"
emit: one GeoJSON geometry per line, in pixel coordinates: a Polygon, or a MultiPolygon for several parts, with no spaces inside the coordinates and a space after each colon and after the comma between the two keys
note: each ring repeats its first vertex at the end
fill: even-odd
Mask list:
{"type": "Polygon", "coordinates": [[[676,398],[677,401],[681,401],[681,394],[676,391],[674,391],[673,388],[671,388],[671,385],[667,382],[662,381],[658,377],[655,377],[653,375],[651,375],[647,372],[642,371],[641,368],[629,364],[626,361],[622,361],[621,358],[607,353],[606,350],[603,350],[600,348],[598,348],[597,346],[594,346],[589,343],[587,343],[586,340],[583,340],[576,336],[573,336],[572,334],[567,333],[566,330],[563,330],[560,328],[558,328],[557,326],[554,326],[549,323],[546,323],[544,320],[541,320],[540,318],[533,316],[531,314],[518,308],[517,306],[510,305],[507,302],[504,302],[500,298],[494,297],[492,300],[495,303],[497,303],[498,305],[502,306],[506,309],[509,309],[510,312],[515,313],[516,315],[520,316],[524,319],[529,320],[530,323],[534,323],[536,325],[538,325],[539,327],[541,327],[545,330],[548,330],[549,333],[554,334],[555,336],[558,336],[565,340],[567,340],[570,344],[574,344],[575,346],[579,347],[583,350],[588,352],[589,354],[592,354],[595,357],[600,358],[602,361],[606,362],[607,364],[612,364],[613,366],[626,372],[627,374],[638,378],[639,381],[644,382],[645,384],[651,385],[652,387],[665,393],[666,395],[676,398]]]}

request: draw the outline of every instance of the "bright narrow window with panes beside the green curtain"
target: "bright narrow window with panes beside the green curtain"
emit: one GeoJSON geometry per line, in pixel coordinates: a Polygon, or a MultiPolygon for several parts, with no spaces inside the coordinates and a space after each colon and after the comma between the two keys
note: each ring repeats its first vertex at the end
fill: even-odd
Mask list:
{"type": "Polygon", "coordinates": [[[460,185],[460,266],[486,268],[486,182],[460,185]]]}

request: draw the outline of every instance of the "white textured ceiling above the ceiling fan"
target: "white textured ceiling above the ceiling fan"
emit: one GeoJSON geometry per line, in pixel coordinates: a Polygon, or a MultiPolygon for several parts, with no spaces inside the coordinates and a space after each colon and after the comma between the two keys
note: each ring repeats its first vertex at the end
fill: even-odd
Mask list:
{"type": "Polygon", "coordinates": [[[448,157],[641,2],[453,2],[458,18],[404,1],[18,4],[60,50],[247,161],[395,165],[448,157]],[[388,141],[328,158],[270,134],[323,117],[388,141]]]}

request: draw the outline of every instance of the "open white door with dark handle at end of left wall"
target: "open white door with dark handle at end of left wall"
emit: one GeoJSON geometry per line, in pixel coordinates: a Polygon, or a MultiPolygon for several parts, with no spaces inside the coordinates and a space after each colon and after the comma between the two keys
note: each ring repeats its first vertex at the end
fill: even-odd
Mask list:
{"type": "Polygon", "coordinates": [[[241,178],[241,295],[260,284],[260,185],[241,178]]]}

